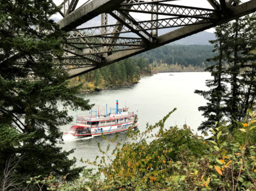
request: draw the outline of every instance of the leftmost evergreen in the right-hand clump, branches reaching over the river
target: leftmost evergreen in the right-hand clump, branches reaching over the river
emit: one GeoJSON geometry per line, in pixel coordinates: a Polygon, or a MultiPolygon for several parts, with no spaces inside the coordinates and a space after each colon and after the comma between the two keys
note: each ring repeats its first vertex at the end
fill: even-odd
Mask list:
{"type": "Polygon", "coordinates": [[[206,68],[206,71],[211,73],[213,80],[207,80],[206,86],[209,90],[195,90],[195,93],[203,96],[207,101],[207,106],[199,107],[200,111],[203,111],[203,116],[207,118],[198,130],[203,132],[207,131],[213,126],[215,122],[220,122],[223,120],[224,114],[226,112],[226,106],[224,101],[227,99],[227,73],[224,68],[226,50],[226,39],[228,36],[229,24],[222,25],[215,28],[216,40],[210,41],[214,45],[213,52],[218,52],[219,54],[213,58],[207,59],[207,61],[213,61],[216,64],[211,65],[206,68]]]}

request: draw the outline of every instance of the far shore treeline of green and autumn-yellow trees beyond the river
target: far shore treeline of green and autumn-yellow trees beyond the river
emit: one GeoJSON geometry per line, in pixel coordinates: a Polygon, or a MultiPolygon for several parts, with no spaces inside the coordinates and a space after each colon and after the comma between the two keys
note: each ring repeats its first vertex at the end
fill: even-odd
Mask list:
{"type": "Polygon", "coordinates": [[[212,45],[165,45],[122,60],[70,80],[70,86],[83,83],[80,92],[135,84],[141,76],[170,71],[203,71],[215,56],[212,45]]]}

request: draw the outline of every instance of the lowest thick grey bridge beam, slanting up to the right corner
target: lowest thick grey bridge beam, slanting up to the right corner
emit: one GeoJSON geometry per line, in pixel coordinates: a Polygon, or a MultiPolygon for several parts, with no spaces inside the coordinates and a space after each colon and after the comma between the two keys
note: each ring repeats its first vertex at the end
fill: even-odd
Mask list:
{"type": "Polygon", "coordinates": [[[220,18],[212,23],[203,23],[203,24],[201,23],[200,25],[187,26],[187,27],[183,27],[178,30],[169,32],[167,34],[157,37],[156,43],[151,44],[150,46],[147,46],[147,47],[141,48],[141,49],[136,49],[136,50],[126,50],[126,51],[118,52],[116,54],[106,57],[103,60],[103,62],[101,64],[97,65],[96,67],[73,69],[72,71],[68,72],[68,76],[69,76],[69,78],[73,78],[73,77],[85,74],[88,71],[94,70],[96,68],[107,66],[109,64],[129,58],[131,56],[146,52],[151,49],[155,49],[156,47],[160,47],[160,46],[168,44],[170,42],[185,38],[187,36],[190,36],[190,35],[202,32],[202,31],[205,31],[212,27],[222,25],[223,23],[240,18],[242,16],[253,13],[255,11],[256,11],[256,0],[251,0],[251,1],[243,3],[241,5],[227,9],[227,13],[228,13],[227,17],[220,18]]]}

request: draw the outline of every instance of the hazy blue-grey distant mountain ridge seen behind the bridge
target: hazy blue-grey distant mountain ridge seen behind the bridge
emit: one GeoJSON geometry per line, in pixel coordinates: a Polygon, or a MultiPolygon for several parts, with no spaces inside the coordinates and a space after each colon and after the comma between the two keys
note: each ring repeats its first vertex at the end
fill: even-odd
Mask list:
{"type": "MultiPolygon", "coordinates": [[[[54,21],[58,21],[60,19],[58,18],[52,18],[54,21]]],[[[116,23],[116,20],[109,16],[108,18],[108,24],[113,25],[116,23]]],[[[101,25],[101,15],[96,16],[94,19],[89,20],[88,22],[84,23],[82,26],[79,28],[87,28],[87,27],[96,27],[101,25]]],[[[160,29],[159,30],[159,36],[163,35],[167,32],[174,31],[178,28],[168,28],[168,29],[160,29]]],[[[121,34],[120,36],[123,37],[137,37],[134,33],[125,33],[121,34]]],[[[188,36],[186,38],[183,38],[181,40],[177,40],[175,42],[172,42],[171,44],[182,44],[182,45],[191,45],[191,44],[197,44],[197,45],[210,45],[209,40],[214,40],[216,39],[215,34],[209,33],[206,31],[194,34],[192,36],[188,36]]]]}

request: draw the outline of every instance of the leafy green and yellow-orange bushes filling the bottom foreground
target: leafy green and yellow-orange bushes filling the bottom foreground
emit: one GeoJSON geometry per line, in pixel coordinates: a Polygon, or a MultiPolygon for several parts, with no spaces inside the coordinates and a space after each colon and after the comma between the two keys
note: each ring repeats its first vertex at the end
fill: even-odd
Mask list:
{"type": "Polygon", "coordinates": [[[256,147],[249,136],[256,127],[255,113],[249,111],[249,122],[239,124],[239,143],[228,127],[218,124],[208,140],[186,125],[164,129],[173,111],[143,133],[129,131],[129,142],[117,142],[111,155],[100,148],[106,157],[100,163],[87,161],[99,166],[96,174],[85,170],[74,182],[58,182],[53,176],[29,182],[52,190],[256,190],[256,147]],[[159,132],[153,135],[156,128],[159,132]],[[153,140],[148,143],[148,138],[153,140]]]}

